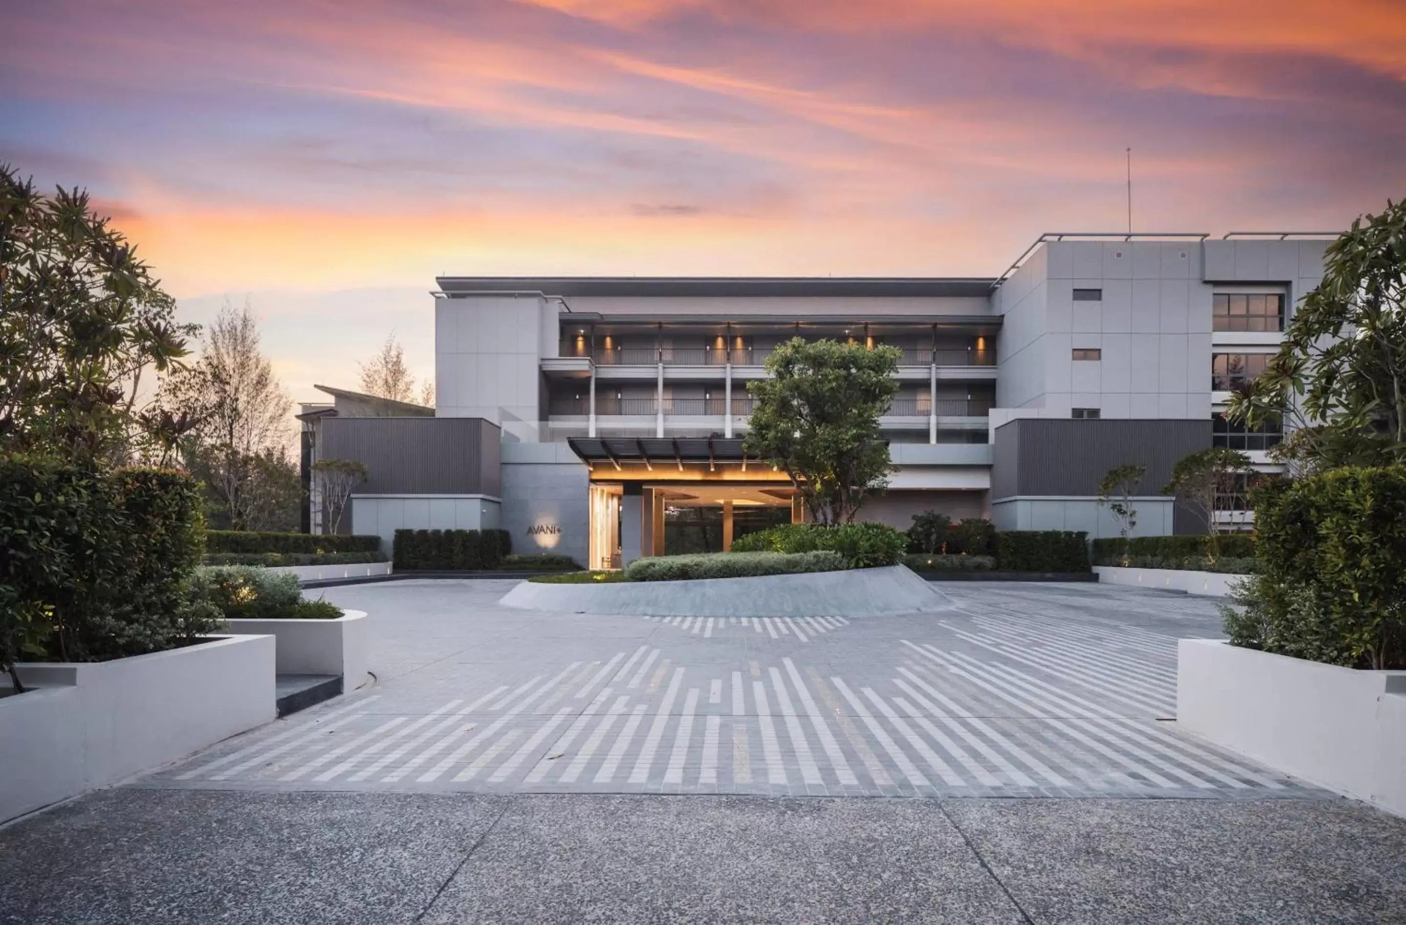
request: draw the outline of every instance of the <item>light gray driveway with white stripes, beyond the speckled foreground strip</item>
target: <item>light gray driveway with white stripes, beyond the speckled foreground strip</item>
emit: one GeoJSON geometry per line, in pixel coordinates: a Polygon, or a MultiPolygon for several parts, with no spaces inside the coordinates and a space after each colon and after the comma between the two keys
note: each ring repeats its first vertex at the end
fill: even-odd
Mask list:
{"type": "Polygon", "coordinates": [[[496,606],[510,582],[332,589],[378,680],[146,786],[269,790],[1282,797],[1177,734],[1205,599],[949,585],[904,617],[648,619],[496,606]]]}

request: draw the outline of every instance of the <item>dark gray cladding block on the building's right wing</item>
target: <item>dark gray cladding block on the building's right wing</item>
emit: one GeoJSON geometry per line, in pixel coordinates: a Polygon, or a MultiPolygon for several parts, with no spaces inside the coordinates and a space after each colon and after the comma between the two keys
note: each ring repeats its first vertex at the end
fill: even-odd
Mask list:
{"type": "Polygon", "coordinates": [[[991,499],[1094,496],[1108,470],[1147,467],[1139,495],[1157,495],[1181,457],[1211,446],[1205,420],[1026,418],[995,429],[991,499]]]}

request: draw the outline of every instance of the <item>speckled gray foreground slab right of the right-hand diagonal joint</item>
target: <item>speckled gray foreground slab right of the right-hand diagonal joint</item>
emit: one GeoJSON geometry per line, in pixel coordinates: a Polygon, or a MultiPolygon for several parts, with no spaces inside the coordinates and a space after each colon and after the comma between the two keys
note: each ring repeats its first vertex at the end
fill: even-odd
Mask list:
{"type": "Polygon", "coordinates": [[[1406,922],[1406,820],[1351,800],[962,800],[1035,922],[1406,922]]]}

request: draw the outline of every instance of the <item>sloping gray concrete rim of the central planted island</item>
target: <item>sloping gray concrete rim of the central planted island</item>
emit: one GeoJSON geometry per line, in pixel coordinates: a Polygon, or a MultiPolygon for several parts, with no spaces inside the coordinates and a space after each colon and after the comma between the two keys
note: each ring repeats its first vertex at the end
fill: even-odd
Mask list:
{"type": "Polygon", "coordinates": [[[509,607],[651,617],[862,617],[946,610],[952,600],[903,565],[679,582],[522,582],[509,607]]]}

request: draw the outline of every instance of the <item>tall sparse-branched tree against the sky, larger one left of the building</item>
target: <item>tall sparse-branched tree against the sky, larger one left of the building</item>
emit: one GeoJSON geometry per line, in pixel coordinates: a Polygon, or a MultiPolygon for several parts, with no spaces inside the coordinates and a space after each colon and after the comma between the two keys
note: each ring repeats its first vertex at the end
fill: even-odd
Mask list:
{"type": "Polygon", "coordinates": [[[186,441],[187,467],[205,481],[217,513],[233,530],[287,523],[298,503],[287,458],[292,402],[259,349],[249,302],[225,302],[194,373],[177,385],[177,401],[200,415],[186,441]]]}

